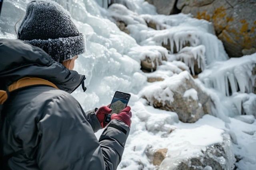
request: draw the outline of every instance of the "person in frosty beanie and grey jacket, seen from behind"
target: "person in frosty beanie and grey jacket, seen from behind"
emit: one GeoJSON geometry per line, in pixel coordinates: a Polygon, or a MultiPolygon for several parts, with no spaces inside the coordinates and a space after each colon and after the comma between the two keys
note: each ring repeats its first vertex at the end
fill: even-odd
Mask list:
{"type": "Polygon", "coordinates": [[[0,169],[116,169],[132,113],[128,106],[105,125],[110,108],[84,112],[70,95],[85,79],[72,70],[85,37],[69,13],[56,2],[34,0],[17,36],[0,39],[0,89],[9,90],[0,111],[0,169]]]}

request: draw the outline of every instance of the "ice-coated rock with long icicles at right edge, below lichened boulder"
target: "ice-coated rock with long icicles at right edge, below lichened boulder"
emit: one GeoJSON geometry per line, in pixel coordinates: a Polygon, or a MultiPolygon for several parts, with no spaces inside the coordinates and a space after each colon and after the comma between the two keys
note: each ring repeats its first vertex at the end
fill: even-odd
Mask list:
{"type": "Polygon", "coordinates": [[[256,79],[256,75],[252,74],[255,65],[256,53],[216,62],[198,77],[206,87],[217,89],[226,96],[238,91],[251,93],[256,79]]]}

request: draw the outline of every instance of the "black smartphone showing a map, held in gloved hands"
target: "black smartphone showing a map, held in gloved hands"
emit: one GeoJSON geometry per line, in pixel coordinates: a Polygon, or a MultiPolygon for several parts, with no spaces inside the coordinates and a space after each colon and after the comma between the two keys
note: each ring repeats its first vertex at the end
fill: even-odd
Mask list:
{"type": "MultiPolygon", "coordinates": [[[[128,93],[116,91],[109,107],[110,109],[112,109],[111,114],[113,113],[119,114],[128,105],[130,97],[131,95],[128,93]]],[[[105,117],[106,123],[110,123],[111,114],[108,114],[105,117]]]]}

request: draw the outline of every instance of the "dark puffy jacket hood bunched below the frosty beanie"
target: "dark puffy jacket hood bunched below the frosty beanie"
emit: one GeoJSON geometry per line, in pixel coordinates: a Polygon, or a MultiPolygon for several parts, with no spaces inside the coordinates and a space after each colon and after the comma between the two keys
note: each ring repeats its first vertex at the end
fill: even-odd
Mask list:
{"type": "Polygon", "coordinates": [[[0,39],[0,89],[22,77],[38,77],[72,93],[85,79],[64,67],[44,50],[22,40],[0,39]]]}

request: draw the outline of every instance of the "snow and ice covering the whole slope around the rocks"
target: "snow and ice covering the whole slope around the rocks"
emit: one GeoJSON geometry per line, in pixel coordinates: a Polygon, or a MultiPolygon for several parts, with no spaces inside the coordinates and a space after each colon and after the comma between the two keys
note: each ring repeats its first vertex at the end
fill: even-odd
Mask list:
{"type": "MultiPolygon", "coordinates": [[[[87,51],[76,61],[75,70],[86,75],[88,90],[73,93],[82,107],[89,110],[108,105],[115,91],[132,95],[132,127],[119,169],[173,169],[180,160],[200,156],[217,143],[223,144],[226,157],[211,156],[220,167],[229,170],[235,164],[240,170],[256,169],[256,77],[252,73],[256,53],[229,59],[211,23],[185,14],[158,15],[144,0],[116,0],[120,4],[108,9],[98,5],[106,6],[101,0],[56,1],[86,35],[87,51]],[[125,23],[130,35],[120,31],[117,21],[125,23]],[[156,24],[156,30],[148,27],[149,22],[156,24]],[[157,66],[156,71],[140,69],[145,59],[157,66]],[[143,98],[142,93],[154,95],[157,91],[156,98],[174,100],[172,90],[178,87],[170,81],[180,83],[188,72],[195,75],[195,65],[202,70],[195,83],[214,103],[212,115],[183,123],[177,113],[156,109],[143,98]],[[148,82],[149,77],[164,80],[166,87],[148,82]],[[155,166],[152,157],[159,149],[166,149],[166,158],[155,166]]],[[[14,25],[24,16],[28,2],[4,1],[0,38],[16,38],[14,25]]],[[[182,96],[193,102],[200,100],[198,94],[189,88],[182,96]]],[[[214,166],[195,168],[210,170],[214,166]]]]}

